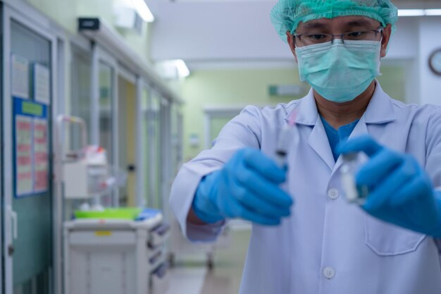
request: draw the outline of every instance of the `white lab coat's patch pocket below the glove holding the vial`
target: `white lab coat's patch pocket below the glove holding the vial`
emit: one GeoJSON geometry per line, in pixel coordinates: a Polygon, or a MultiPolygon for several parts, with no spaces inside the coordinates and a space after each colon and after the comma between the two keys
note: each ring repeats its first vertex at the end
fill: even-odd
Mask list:
{"type": "Polygon", "coordinates": [[[364,216],[364,227],[366,245],[380,256],[413,252],[426,238],[426,235],[380,221],[368,214],[364,216]]]}

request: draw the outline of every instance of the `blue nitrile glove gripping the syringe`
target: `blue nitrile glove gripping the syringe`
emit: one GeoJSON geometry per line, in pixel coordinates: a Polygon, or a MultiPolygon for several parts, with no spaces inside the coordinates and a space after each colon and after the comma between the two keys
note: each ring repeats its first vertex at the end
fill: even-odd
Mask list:
{"type": "Polygon", "coordinates": [[[257,149],[241,149],[223,169],[205,176],[192,203],[206,223],[241,218],[275,226],[290,215],[292,197],[278,187],[286,171],[257,149]]]}

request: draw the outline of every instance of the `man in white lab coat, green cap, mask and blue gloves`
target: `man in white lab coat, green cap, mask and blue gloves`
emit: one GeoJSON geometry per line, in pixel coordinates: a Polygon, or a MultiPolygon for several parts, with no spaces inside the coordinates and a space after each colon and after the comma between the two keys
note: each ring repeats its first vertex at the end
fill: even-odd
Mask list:
{"type": "Polygon", "coordinates": [[[311,91],[245,108],[182,167],[170,197],[182,231],[212,241],[227,219],[253,223],[242,294],[440,294],[441,110],[397,102],[375,80],[397,8],[280,0],[271,19],[311,91]],[[292,114],[298,140],[278,166],[292,114]],[[341,180],[340,154],[356,152],[362,204],[341,180]]]}

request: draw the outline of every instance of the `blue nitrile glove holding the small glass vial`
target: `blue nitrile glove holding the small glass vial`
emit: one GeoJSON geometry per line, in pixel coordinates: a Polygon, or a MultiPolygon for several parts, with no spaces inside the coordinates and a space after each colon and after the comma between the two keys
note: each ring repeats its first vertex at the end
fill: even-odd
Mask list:
{"type": "Polygon", "coordinates": [[[365,135],[339,146],[342,154],[365,152],[371,159],[356,174],[356,185],[368,187],[362,208],[369,214],[412,231],[441,237],[441,193],[409,154],[379,145],[365,135]]]}

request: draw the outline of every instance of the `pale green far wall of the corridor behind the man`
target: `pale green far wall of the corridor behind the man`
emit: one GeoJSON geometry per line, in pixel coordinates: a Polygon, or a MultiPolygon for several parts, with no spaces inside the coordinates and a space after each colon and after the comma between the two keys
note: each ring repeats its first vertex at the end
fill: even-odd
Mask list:
{"type": "MultiPolygon", "coordinates": [[[[382,73],[378,80],[383,90],[391,97],[404,101],[404,66],[383,66],[382,73]]],[[[181,86],[185,99],[185,105],[182,107],[184,160],[192,159],[204,149],[204,107],[242,107],[248,104],[274,106],[301,98],[271,97],[268,93],[270,85],[301,85],[297,68],[193,71],[181,86]],[[190,146],[189,137],[192,134],[199,136],[199,147],[190,146]]],[[[221,125],[213,125],[212,130],[220,128],[221,125]]]]}

